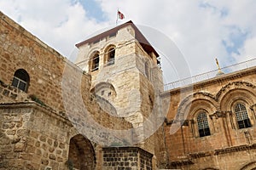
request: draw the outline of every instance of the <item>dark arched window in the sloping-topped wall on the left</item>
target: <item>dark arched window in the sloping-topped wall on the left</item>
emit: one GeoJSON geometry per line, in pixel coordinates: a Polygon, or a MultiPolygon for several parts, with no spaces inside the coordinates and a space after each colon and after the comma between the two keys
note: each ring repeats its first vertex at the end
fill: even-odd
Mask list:
{"type": "Polygon", "coordinates": [[[23,69],[19,69],[15,71],[15,76],[12,82],[12,86],[15,88],[19,88],[20,90],[27,92],[29,84],[29,75],[23,69]]]}

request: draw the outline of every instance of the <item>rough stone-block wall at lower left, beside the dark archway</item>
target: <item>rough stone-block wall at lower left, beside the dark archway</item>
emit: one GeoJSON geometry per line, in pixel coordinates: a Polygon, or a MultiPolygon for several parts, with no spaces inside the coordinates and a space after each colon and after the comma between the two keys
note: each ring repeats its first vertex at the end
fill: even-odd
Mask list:
{"type": "Polygon", "coordinates": [[[0,169],[67,169],[72,125],[64,116],[26,102],[1,105],[0,117],[0,169]]]}

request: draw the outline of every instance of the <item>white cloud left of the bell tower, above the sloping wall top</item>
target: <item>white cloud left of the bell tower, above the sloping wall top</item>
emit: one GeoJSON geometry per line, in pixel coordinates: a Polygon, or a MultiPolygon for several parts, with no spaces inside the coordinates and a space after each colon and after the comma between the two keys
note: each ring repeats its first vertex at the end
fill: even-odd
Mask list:
{"type": "Polygon", "coordinates": [[[0,7],[3,13],[66,57],[72,53],[75,43],[108,26],[88,19],[79,2],[68,0],[0,1],[0,7]]]}

